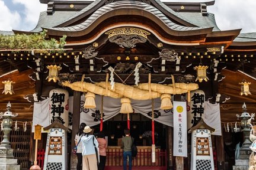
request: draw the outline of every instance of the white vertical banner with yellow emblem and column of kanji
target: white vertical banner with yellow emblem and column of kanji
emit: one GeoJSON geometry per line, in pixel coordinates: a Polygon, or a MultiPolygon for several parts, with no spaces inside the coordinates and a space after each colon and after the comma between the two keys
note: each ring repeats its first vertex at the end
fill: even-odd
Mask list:
{"type": "Polygon", "coordinates": [[[173,155],[187,157],[187,106],[186,102],[173,102],[174,145],[173,155]]]}

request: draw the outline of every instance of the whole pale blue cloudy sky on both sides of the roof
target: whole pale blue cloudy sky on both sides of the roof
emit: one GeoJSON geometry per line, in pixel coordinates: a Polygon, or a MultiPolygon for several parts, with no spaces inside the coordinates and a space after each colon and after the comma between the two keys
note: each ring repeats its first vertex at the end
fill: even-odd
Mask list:
{"type": "MultiPolygon", "coordinates": [[[[162,0],[178,1],[178,0],[162,0]]],[[[209,0],[180,0],[209,1],[209,0]]],[[[0,0],[0,30],[30,31],[36,27],[40,11],[46,4],[39,0],[0,0]]],[[[214,6],[208,6],[208,12],[215,14],[220,30],[243,28],[242,32],[256,32],[255,0],[216,0],[214,6]]]]}

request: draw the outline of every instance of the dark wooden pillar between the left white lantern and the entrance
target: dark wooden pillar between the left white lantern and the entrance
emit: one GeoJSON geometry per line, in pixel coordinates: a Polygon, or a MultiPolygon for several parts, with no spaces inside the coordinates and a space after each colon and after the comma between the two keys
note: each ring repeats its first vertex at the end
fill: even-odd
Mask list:
{"type": "MultiPolygon", "coordinates": [[[[72,139],[71,139],[71,150],[75,147],[75,135],[79,130],[80,123],[80,102],[81,92],[73,91],[73,123],[72,123],[72,139]]],[[[76,169],[76,155],[71,153],[71,169],[76,169]]]]}

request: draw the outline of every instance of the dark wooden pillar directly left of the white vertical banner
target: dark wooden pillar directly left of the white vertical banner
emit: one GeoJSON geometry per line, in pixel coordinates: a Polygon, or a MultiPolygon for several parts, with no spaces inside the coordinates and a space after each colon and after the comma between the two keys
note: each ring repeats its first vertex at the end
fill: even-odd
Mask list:
{"type": "Polygon", "coordinates": [[[167,126],[167,131],[166,131],[166,136],[167,136],[167,164],[168,164],[168,169],[173,169],[173,128],[170,126],[167,126]]]}

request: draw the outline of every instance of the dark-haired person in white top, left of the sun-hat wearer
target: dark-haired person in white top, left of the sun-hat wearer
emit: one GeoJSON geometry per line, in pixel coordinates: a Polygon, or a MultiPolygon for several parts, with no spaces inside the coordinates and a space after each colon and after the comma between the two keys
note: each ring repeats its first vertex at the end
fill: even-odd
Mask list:
{"type": "Polygon", "coordinates": [[[76,164],[76,169],[81,170],[82,168],[82,141],[81,138],[84,136],[84,128],[87,126],[85,123],[81,123],[80,128],[75,136],[75,145],[76,145],[76,157],[78,163],[76,164]]]}

